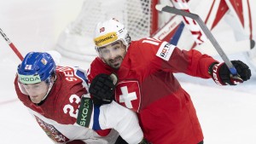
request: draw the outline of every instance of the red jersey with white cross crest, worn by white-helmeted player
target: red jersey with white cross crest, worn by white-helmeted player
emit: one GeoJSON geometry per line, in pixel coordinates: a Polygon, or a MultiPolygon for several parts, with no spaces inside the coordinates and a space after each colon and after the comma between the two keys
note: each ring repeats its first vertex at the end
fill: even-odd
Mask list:
{"type": "Polygon", "coordinates": [[[96,58],[90,65],[91,81],[100,73],[115,72],[119,82],[115,101],[138,112],[143,133],[154,144],[197,144],[201,126],[189,94],[174,72],[211,78],[208,67],[216,62],[192,49],[178,49],[154,38],[132,41],[118,70],[96,58]]]}

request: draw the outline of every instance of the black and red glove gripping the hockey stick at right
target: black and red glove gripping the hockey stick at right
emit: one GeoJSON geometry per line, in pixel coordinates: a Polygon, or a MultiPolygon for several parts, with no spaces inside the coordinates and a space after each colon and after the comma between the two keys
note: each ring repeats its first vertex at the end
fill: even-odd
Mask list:
{"type": "Polygon", "coordinates": [[[233,76],[225,63],[212,63],[209,67],[209,73],[216,84],[236,85],[251,78],[251,70],[245,63],[241,60],[231,60],[231,62],[236,67],[238,76],[233,76]]]}

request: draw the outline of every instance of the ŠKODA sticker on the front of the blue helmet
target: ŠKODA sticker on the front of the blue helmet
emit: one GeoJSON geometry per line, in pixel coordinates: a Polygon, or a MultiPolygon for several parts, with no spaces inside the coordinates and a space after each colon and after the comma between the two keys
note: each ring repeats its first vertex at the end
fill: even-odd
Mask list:
{"type": "Polygon", "coordinates": [[[21,75],[19,74],[19,81],[22,84],[37,84],[41,82],[39,75],[21,75]]]}

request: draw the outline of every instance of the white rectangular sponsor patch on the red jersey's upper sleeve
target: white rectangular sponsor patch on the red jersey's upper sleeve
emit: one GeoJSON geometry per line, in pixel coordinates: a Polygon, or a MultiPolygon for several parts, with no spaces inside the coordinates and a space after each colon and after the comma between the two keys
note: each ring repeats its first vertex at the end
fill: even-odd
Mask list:
{"type": "Polygon", "coordinates": [[[160,45],[160,48],[158,49],[156,55],[163,60],[169,60],[174,48],[175,48],[174,45],[167,42],[163,42],[160,45]]]}

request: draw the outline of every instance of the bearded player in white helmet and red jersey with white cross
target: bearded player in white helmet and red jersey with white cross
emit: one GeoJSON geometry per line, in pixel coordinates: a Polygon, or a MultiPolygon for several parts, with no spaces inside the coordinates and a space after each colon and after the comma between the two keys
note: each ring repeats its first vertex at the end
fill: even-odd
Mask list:
{"type": "Polygon", "coordinates": [[[114,99],[137,112],[143,133],[153,144],[203,143],[195,107],[173,73],[213,78],[222,85],[251,77],[249,67],[240,60],[232,60],[240,75],[234,78],[224,63],[194,49],[181,50],[150,37],[131,41],[125,26],[114,19],[96,25],[94,42],[99,56],[88,73],[90,94],[103,104],[114,99]],[[106,97],[98,82],[111,73],[119,79],[115,89],[109,89],[114,96],[106,97]]]}

